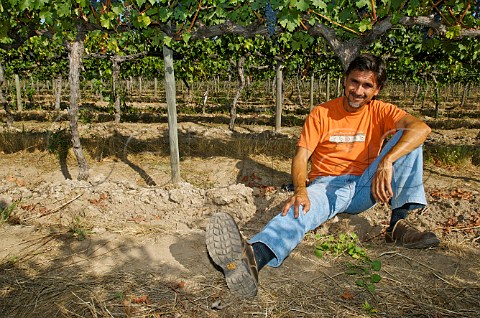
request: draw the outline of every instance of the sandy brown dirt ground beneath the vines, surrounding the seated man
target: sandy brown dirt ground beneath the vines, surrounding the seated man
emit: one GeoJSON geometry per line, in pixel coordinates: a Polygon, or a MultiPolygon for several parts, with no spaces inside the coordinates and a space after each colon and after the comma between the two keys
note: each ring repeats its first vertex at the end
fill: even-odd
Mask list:
{"type": "MultiPolygon", "coordinates": [[[[386,206],[339,215],[309,233],[281,267],[262,270],[258,295],[245,300],[228,292],[211,263],[205,226],[222,211],[247,237],[261,230],[291,194],[282,188],[290,154],[238,155],[228,147],[241,147],[245,136],[294,145],[299,130],[276,136],[270,127],[240,125],[234,134],[225,125],[179,125],[182,142],[227,149],[183,151],[176,185],[167,153],[130,152],[127,144],[121,156],[89,158],[88,181],[76,180],[72,153],[66,166],[38,149],[1,154],[0,207],[15,208],[0,225],[0,317],[479,317],[478,165],[425,166],[429,206],[409,219],[434,231],[439,247],[386,244],[386,206]],[[348,274],[348,255],[315,256],[315,234],[340,233],[356,233],[357,244],[381,261],[374,291],[348,274]]],[[[112,127],[84,125],[82,135],[112,127]]],[[[165,135],[167,126],[119,124],[115,131],[141,140],[165,135]]],[[[428,142],[479,145],[478,136],[479,129],[434,129],[428,142]]]]}

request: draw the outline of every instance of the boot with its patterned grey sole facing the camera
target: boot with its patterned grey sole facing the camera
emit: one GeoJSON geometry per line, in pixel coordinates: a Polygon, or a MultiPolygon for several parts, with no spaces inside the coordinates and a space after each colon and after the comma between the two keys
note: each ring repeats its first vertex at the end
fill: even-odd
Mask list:
{"type": "Polygon", "coordinates": [[[243,238],[235,220],[227,213],[210,218],[206,233],[207,250],[225,274],[230,291],[254,297],[258,288],[258,269],[253,248],[243,238]]]}

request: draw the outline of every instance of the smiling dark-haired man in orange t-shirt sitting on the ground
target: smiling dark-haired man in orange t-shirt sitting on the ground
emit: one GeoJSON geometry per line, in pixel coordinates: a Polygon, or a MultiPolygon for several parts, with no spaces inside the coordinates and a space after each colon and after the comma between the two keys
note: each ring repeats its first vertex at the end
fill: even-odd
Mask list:
{"type": "Polygon", "coordinates": [[[292,161],[294,194],[262,231],[247,242],[230,215],[212,216],[207,249],[233,293],[255,296],[258,271],[280,266],[308,231],[338,213],[357,214],[376,203],[392,206],[387,242],[407,248],[439,244],[433,232],[405,220],[409,211],[426,205],[421,145],[430,128],[375,99],[385,80],[378,57],[364,54],[350,63],[344,96],[317,106],[305,120],[292,161]]]}

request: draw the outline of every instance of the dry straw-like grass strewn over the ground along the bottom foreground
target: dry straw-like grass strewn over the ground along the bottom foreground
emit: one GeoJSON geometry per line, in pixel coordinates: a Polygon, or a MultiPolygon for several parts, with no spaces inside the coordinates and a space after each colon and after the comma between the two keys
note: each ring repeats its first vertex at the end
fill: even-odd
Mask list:
{"type": "Polygon", "coordinates": [[[258,296],[244,300],[228,293],[213,268],[183,279],[115,269],[94,275],[63,262],[67,255],[40,265],[37,257],[58,240],[68,238],[31,241],[26,248],[36,255],[2,262],[2,317],[477,317],[480,310],[480,256],[463,248],[452,254],[459,249],[384,249],[374,242],[368,253],[382,261],[383,279],[369,293],[345,274],[351,259],[317,259],[306,240],[282,267],[263,270],[258,296]]]}

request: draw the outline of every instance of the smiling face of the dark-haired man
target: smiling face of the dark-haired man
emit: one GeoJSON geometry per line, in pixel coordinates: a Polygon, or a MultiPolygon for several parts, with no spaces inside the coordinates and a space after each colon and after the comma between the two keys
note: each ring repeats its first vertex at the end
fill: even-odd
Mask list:
{"type": "Polygon", "coordinates": [[[377,85],[377,77],[372,71],[354,70],[343,81],[345,97],[345,109],[355,112],[370,102],[380,92],[377,85]]]}

